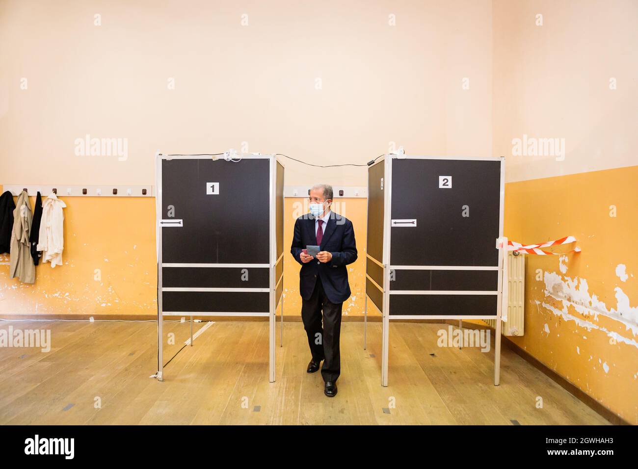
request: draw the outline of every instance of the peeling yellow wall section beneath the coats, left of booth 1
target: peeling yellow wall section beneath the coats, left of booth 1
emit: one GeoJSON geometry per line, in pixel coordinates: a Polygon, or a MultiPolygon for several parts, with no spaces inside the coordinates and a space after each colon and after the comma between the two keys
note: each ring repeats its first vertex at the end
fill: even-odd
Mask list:
{"type": "Polygon", "coordinates": [[[36,266],[33,285],[0,265],[0,315],[157,314],[155,199],[60,198],[63,265],[36,266]]]}

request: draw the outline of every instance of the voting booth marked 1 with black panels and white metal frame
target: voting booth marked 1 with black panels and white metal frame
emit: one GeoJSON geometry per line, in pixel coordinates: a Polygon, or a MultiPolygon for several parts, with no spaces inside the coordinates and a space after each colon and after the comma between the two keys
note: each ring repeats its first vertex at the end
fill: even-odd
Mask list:
{"type": "Polygon", "coordinates": [[[156,155],[158,380],[164,316],[190,316],[190,345],[193,316],[267,316],[274,382],[283,178],[274,155],[156,155]]]}

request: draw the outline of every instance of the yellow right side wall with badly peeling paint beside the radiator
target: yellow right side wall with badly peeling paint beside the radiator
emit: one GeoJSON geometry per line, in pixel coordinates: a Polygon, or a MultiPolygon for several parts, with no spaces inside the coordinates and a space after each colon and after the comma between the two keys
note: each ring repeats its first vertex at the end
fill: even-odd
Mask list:
{"type": "Polygon", "coordinates": [[[526,257],[525,334],[512,341],[634,424],[637,182],[634,166],[512,182],[505,189],[505,233],[510,239],[531,244],[574,235],[582,248],[562,259],[526,257]],[[626,266],[627,278],[616,274],[619,264],[626,266]],[[560,276],[560,288],[549,281],[548,289],[545,278],[553,275],[560,276]],[[569,281],[575,282],[575,291],[568,288],[569,281]]]}

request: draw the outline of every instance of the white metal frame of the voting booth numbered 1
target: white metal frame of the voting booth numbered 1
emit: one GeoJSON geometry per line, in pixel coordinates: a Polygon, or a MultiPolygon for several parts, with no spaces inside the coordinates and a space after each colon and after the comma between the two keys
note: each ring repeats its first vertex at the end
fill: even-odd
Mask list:
{"type": "MultiPolygon", "coordinates": [[[[197,168],[200,168],[200,161],[197,162],[197,168]]],[[[156,170],[156,252],[158,260],[158,371],[156,378],[159,381],[164,379],[164,363],[163,363],[163,317],[164,316],[190,316],[191,322],[191,339],[189,345],[193,345],[193,316],[268,316],[269,318],[269,382],[275,381],[275,341],[276,341],[276,310],[281,304],[281,327],[283,333],[283,175],[284,165],[277,160],[275,155],[260,155],[260,154],[237,154],[230,156],[230,158],[215,158],[214,155],[165,155],[156,154],[155,157],[155,170],[156,170]],[[228,263],[228,262],[202,262],[202,263],[164,263],[163,262],[163,248],[164,236],[163,230],[171,229],[175,230],[175,227],[182,227],[184,223],[178,219],[163,219],[164,208],[163,207],[163,163],[170,160],[209,160],[209,161],[233,161],[238,163],[242,160],[268,160],[268,172],[269,172],[269,195],[267,203],[269,204],[269,211],[264,216],[269,218],[269,246],[268,257],[269,262],[259,264],[249,264],[247,262],[241,263],[228,263]],[[281,206],[279,206],[281,205],[281,206]],[[278,221],[281,221],[281,226],[278,226],[278,221]],[[178,271],[188,271],[188,269],[197,269],[198,272],[211,272],[217,270],[218,272],[226,272],[228,269],[262,269],[262,273],[265,273],[267,269],[267,287],[260,285],[262,288],[224,288],[224,287],[164,287],[163,286],[163,270],[173,269],[177,267],[178,271]],[[223,269],[226,269],[224,271],[223,269]],[[245,311],[223,311],[219,308],[212,308],[211,311],[165,311],[164,310],[164,294],[165,292],[195,292],[202,294],[205,292],[218,293],[225,292],[226,294],[232,294],[235,292],[241,292],[243,297],[248,297],[250,294],[264,295],[267,294],[267,308],[263,308],[263,311],[254,311],[252,305],[246,306],[245,311]]],[[[246,177],[244,179],[249,179],[246,177]]],[[[252,181],[247,181],[251,184],[252,181]]],[[[191,187],[193,181],[183,181],[184,188],[191,187]]],[[[210,183],[207,182],[207,185],[210,183]]],[[[204,190],[202,186],[197,187],[197,190],[204,190]]],[[[209,189],[207,188],[207,191],[209,189]]],[[[214,191],[215,189],[212,188],[214,191]]],[[[219,186],[217,188],[219,192],[219,186]]],[[[207,192],[211,193],[211,192],[207,192]]],[[[215,192],[212,192],[213,194],[215,192]]],[[[228,227],[227,227],[228,228],[228,227]]],[[[237,237],[241,234],[235,234],[237,237]]],[[[211,274],[212,277],[219,276],[221,274],[211,274]]],[[[223,275],[222,275],[223,276],[223,275]]],[[[211,277],[211,278],[212,278],[211,277]]],[[[261,275],[263,278],[263,275],[261,275]]],[[[265,278],[263,279],[265,281],[265,278]]],[[[183,282],[182,282],[183,283],[183,282]]],[[[263,297],[260,297],[263,298],[263,297]]],[[[249,299],[240,301],[250,302],[249,299]]],[[[175,303],[175,301],[173,302],[175,303]]],[[[201,305],[201,301],[199,301],[201,305]]],[[[207,304],[209,304],[206,301],[207,304]]],[[[265,298],[260,301],[260,304],[265,304],[265,298]]],[[[213,306],[211,304],[211,306],[213,306]]],[[[224,305],[221,309],[226,307],[224,305]]],[[[201,309],[201,308],[199,308],[201,309]]]]}

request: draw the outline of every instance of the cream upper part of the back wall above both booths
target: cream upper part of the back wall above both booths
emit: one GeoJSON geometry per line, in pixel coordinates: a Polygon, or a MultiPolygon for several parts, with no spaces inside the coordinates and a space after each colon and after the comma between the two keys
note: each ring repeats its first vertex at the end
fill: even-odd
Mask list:
{"type": "MultiPolygon", "coordinates": [[[[489,0],[2,1],[0,182],[152,184],[157,150],[242,142],[322,164],[392,142],[491,156],[491,15],[489,0]],[[127,138],[128,158],[76,156],[86,134],[127,138]]],[[[362,167],[286,170],[366,185],[362,167]]]]}

